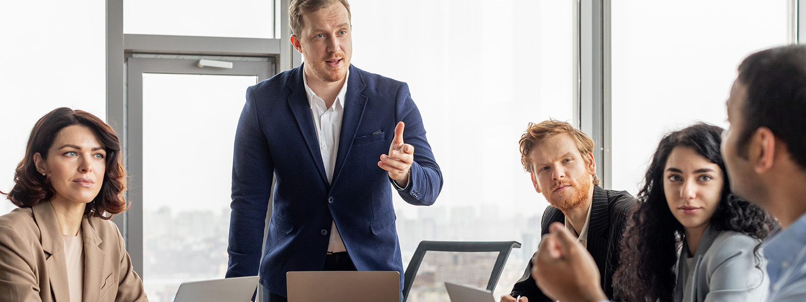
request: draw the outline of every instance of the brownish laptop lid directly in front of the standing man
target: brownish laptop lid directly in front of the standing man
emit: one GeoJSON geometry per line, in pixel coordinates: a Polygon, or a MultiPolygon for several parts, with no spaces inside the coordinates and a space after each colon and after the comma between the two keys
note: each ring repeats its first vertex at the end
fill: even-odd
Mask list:
{"type": "Polygon", "coordinates": [[[397,271],[289,271],[289,302],[400,302],[397,271]]]}

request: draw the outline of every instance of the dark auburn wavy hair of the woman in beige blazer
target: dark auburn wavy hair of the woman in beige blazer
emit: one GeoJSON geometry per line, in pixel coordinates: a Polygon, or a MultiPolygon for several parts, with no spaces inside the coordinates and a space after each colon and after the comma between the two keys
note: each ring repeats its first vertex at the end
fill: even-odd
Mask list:
{"type": "Polygon", "coordinates": [[[25,148],[25,157],[17,165],[14,173],[14,188],[6,198],[20,208],[52,201],[56,192],[46,176],[36,171],[34,155],[39,152],[43,159],[48,158],[48,150],[56,141],[56,134],[67,126],[81,125],[93,131],[106,150],[106,172],[101,191],[84,210],[85,217],[110,219],[111,215],[127,209],[123,192],[126,191],[126,170],[121,164],[120,142],[114,130],[100,118],[81,110],[56,108],[45,114],[34,125],[25,148]]]}

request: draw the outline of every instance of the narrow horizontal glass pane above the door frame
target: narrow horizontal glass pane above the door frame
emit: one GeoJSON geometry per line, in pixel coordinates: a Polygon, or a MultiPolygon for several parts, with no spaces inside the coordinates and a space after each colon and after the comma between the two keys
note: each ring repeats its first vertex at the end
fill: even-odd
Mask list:
{"type": "Polygon", "coordinates": [[[271,0],[124,0],[123,33],[274,38],[271,0]]]}

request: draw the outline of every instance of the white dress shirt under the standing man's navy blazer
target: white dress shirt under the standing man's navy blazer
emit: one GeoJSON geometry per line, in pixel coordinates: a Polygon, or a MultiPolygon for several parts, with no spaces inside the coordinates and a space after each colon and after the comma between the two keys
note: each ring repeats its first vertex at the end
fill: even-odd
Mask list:
{"type": "MultiPolygon", "coordinates": [[[[347,79],[350,78],[350,70],[347,70],[347,79]]],[[[319,142],[319,151],[322,153],[322,163],[325,165],[327,181],[333,181],[333,170],[336,165],[336,154],[339,151],[339,134],[342,133],[342,118],[344,117],[344,97],[347,95],[347,80],[344,81],[342,89],[336,95],[336,101],[330,108],[326,107],[325,101],[318,97],[314,90],[308,87],[308,77],[302,72],[302,82],[305,83],[305,95],[310,104],[310,113],[314,118],[314,128],[316,128],[316,138],[319,142]]],[[[330,225],[330,242],[327,244],[327,251],[336,253],[347,251],[336,229],[336,222],[330,225]]]]}

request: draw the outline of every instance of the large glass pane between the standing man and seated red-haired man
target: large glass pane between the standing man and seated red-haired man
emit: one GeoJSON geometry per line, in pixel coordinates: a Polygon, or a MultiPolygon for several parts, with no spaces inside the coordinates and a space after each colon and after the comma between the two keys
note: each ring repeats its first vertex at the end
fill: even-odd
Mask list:
{"type": "Polygon", "coordinates": [[[575,123],[574,2],[350,4],[352,63],[409,84],[445,180],[428,207],[393,194],[403,263],[422,240],[517,240],[495,292],[509,293],[548,205],[517,141],[529,122],[575,123]]]}

